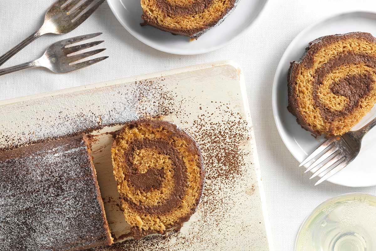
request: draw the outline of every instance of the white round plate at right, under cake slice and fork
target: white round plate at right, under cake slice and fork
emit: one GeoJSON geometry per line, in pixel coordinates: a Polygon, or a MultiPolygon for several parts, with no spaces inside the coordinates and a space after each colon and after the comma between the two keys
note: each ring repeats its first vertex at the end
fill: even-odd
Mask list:
{"type": "MultiPolygon", "coordinates": [[[[318,37],[354,31],[370,32],[376,36],[376,13],[350,12],[309,26],[294,38],[279,62],[273,83],[273,114],[282,140],[299,162],[320,145],[324,138],[315,139],[310,132],[302,129],[296,122],[296,117],[287,111],[287,72],[290,62],[300,59],[308,43],[318,37]]],[[[373,107],[354,129],[365,125],[375,116],[376,107],[373,107]]],[[[348,187],[376,186],[375,141],[376,129],[373,129],[364,137],[358,157],[328,181],[348,187]]]]}

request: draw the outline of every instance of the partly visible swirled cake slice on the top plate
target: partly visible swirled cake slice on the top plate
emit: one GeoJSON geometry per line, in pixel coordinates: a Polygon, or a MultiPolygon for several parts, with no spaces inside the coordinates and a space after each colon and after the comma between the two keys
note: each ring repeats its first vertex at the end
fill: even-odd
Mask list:
{"type": "Polygon", "coordinates": [[[175,35],[199,38],[220,24],[238,0],[141,0],[144,24],[175,35]]]}

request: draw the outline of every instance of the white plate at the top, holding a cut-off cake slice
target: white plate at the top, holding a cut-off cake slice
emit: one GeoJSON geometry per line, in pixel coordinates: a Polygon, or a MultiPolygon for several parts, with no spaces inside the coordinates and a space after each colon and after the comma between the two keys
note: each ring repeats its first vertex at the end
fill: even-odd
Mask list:
{"type": "Polygon", "coordinates": [[[190,38],[174,36],[150,26],[140,26],[143,13],[140,0],[107,0],[119,22],[135,38],[162,52],[195,55],[220,49],[238,38],[253,23],[267,0],[241,0],[223,23],[190,42],[190,38]]]}

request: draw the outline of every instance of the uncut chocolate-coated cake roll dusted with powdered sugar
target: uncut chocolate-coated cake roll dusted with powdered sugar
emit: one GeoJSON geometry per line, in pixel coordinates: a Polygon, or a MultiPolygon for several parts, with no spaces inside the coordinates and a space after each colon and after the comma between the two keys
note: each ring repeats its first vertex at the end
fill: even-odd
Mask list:
{"type": "Polygon", "coordinates": [[[0,153],[0,250],[112,243],[84,135],[0,153]]]}

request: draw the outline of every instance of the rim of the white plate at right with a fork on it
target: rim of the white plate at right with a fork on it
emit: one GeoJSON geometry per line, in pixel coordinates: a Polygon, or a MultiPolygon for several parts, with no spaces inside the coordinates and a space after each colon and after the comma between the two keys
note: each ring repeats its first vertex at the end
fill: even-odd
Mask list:
{"type": "MultiPolygon", "coordinates": [[[[376,12],[372,12],[372,11],[365,11],[365,10],[355,10],[355,11],[344,11],[344,12],[339,12],[337,14],[334,14],[334,15],[328,15],[324,18],[321,18],[319,19],[318,21],[315,21],[314,23],[310,24],[309,26],[305,27],[303,30],[301,30],[294,38],[293,40],[291,40],[290,44],[286,47],[282,57],[280,58],[279,62],[278,62],[278,66],[276,68],[276,72],[274,74],[274,78],[273,78],[273,87],[272,87],[272,94],[271,94],[271,105],[272,105],[272,110],[273,110],[273,117],[274,117],[274,123],[277,127],[277,131],[278,131],[278,134],[280,136],[280,138],[282,139],[283,143],[285,144],[286,148],[288,149],[288,151],[291,153],[291,155],[293,155],[293,157],[300,163],[301,161],[299,160],[299,158],[297,157],[296,154],[294,154],[294,152],[292,151],[291,147],[289,147],[289,143],[287,142],[287,138],[286,136],[282,136],[282,135],[285,135],[284,131],[282,130],[282,126],[279,125],[279,122],[280,122],[280,119],[279,119],[279,116],[278,116],[278,107],[277,106],[277,87],[278,87],[278,78],[279,76],[281,75],[282,73],[282,70],[283,70],[283,63],[287,60],[287,56],[288,56],[288,51],[291,50],[291,47],[293,47],[293,43],[297,40],[299,40],[307,31],[311,30],[313,27],[317,26],[318,24],[321,24],[321,23],[324,23],[328,20],[331,20],[331,19],[334,19],[334,18],[337,18],[337,17],[340,17],[340,16],[343,16],[343,15],[351,15],[351,14],[366,14],[366,15],[369,15],[369,14],[372,14],[372,15],[376,15],[376,12]]],[[[305,167],[306,168],[306,167],[305,167]]],[[[311,171],[312,172],[312,171],[311,171]]],[[[319,175],[320,176],[320,175],[319,175]]],[[[321,177],[321,176],[320,176],[321,177]]],[[[372,186],[376,186],[376,183],[372,186],[353,186],[353,185],[349,185],[349,184],[343,184],[343,183],[339,183],[339,182],[334,182],[331,180],[331,178],[327,179],[328,182],[332,183],[332,184],[336,184],[336,185],[339,185],[339,186],[345,186],[345,187],[372,187],[372,186]]]]}

